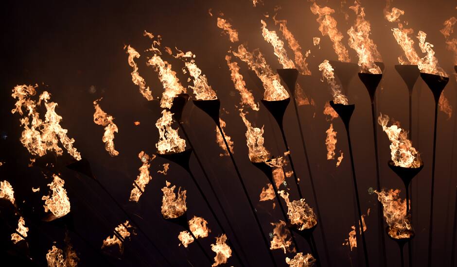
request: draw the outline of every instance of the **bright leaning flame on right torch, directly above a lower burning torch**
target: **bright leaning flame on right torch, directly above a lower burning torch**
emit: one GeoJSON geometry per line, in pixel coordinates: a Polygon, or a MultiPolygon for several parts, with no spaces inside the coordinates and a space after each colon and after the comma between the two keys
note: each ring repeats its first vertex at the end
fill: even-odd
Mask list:
{"type": "Polygon", "coordinates": [[[383,127],[389,138],[391,160],[395,166],[417,168],[421,166],[422,160],[419,152],[412,147],[412,142],[408,140],[408,132],[400,128],[400,122],[395,121],[387,127],[389,117],[380,114],[378,124],[383,127]]]}

